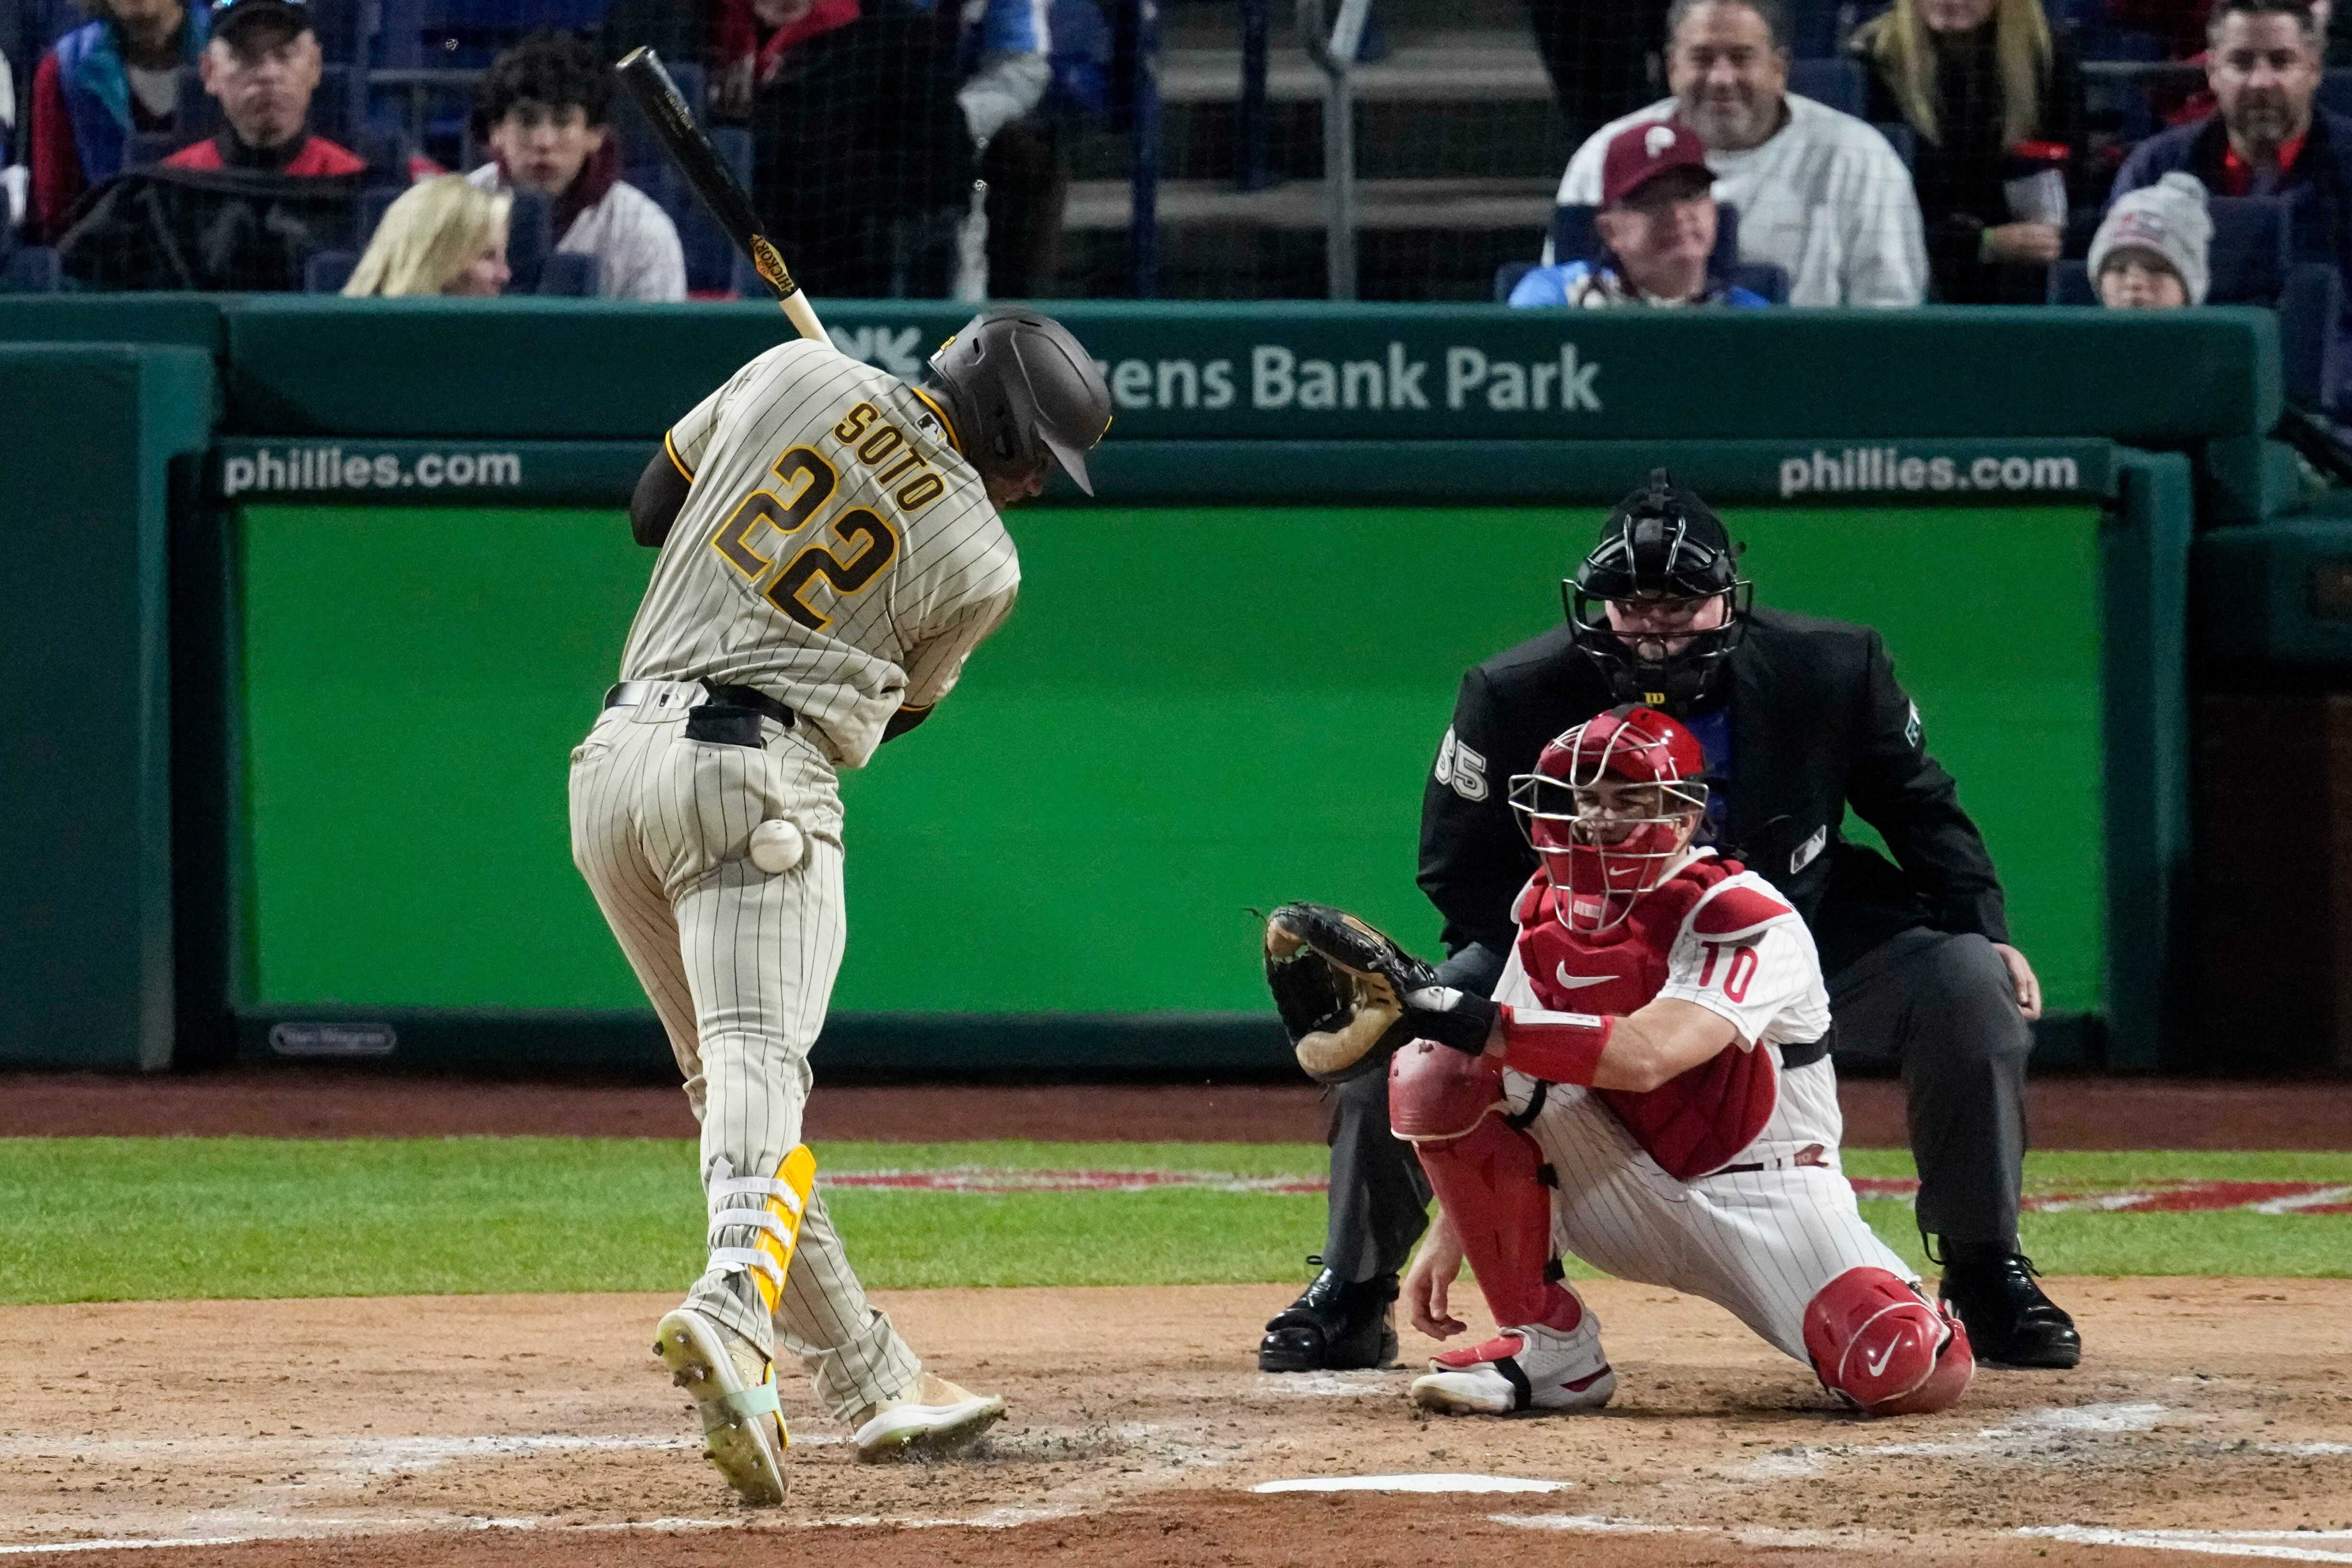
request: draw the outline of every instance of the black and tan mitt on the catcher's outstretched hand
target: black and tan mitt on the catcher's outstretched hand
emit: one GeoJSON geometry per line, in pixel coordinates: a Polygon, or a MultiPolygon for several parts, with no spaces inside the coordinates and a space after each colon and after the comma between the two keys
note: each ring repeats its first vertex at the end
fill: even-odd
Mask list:
{"type": "Polygon", "coordinates": [[[1414,1037],[1406,992],[1437,971],[1345,910],[1287,903],[1265,917],[1265,987],[1317,1084],[1345,1084],[1388,1065],[1414,1037]]]}

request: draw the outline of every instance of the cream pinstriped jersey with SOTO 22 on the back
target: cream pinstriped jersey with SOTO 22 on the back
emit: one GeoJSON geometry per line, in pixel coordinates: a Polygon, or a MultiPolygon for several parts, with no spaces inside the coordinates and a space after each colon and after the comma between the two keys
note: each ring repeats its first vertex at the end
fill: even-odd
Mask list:
{"type": "Polygon", "coordinates": [[[854,769],[1011,611],[1021,562],[981,475],[887,371],[779,343],[666,440],[691,489],[621,679],[757,686],[854,769]]]}

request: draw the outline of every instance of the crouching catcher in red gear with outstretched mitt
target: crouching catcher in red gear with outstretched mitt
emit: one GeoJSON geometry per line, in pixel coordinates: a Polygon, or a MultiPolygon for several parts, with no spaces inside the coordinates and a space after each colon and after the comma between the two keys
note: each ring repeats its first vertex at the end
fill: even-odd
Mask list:
{"type": "Polygon", "coordinates": [[[1268,919],[1301,1065],[1322,1081],[1385,1067],[1390,1126],[1444,1208],[1404,1281],[1414,1324],[1465,1328],[1446,1293],[1468,1258],[1503,1326],[1430,1363],[1423,1408],[1609,1403],[1599,1321],[1562,1253],[1726,1307],[1856,1410],[1940,1410],[1969,1387],[1966,1331],[1839,1171],[1813,938],[1762,877],[1693,844],[1703,769],[1691,731],[1628,705],[1510,780],[1538,870],[1494,1001],[1336,910],[1268,919]]]}

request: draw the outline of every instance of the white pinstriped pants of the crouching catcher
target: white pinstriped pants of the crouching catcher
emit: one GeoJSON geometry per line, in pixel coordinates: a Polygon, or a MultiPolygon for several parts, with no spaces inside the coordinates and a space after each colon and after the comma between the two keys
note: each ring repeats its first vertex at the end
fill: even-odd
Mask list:
{"type": "MultiPolygon", "coordinates": [[[[1512,1112],[1531,1091],[1534,1079],[1503,1074],[1512,1112]]],[[[1837,1072],[1825,1060],[1780,1074],[1771,1121],[1738,1157],[1783,1161],[1766,1171],[1679,1182],[1597,1095],[1559,1084],[1526,1128],[1559,1180],[1552,1246],[1618,1279],[1703,1295],[1797,1361],[1806,1361],[1804,1307],[1820,1286],[1860,1267],[1919,1279],[1853,1206],[1839,1131],[1837,1072]],[[1809,1145],[1828,1164],[1795,1164],[1809,1145]]]]}

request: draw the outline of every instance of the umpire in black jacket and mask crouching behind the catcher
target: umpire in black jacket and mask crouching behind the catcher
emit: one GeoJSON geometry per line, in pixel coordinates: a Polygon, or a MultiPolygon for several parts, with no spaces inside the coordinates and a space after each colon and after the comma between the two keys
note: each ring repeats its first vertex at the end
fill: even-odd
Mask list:
{"type": "MultiPolygon", "coordinates": [[[[1616,703],[1679,717],[1717,780],[1708,830],[1804,914],[1830,978],[1835,1044],[1903,1072],[1919,1232],[1980,1361],[2065,1368],[2072,1319],[2018,1253],[2027,1020],[2042,987],[2009,945],[2002,884],[1896,684],[1879,635],[1757,609],[1722,520],[1665,470],[1618,503],[1562,583],[1569,623],[1463,677],[1421,804],[1421,889],[1444,914],[1446,983],[1491,990],[1510,905],[1536,867],[1510,778],[1616,703]],[[1849,844],[1846,809],[1896,860],[1849,844]]],[[[1395,1356],[1397,1269],[1428,1182],[1388,1131],[1388,1079],[1334,1091],[1322,1274],[1265,1326],[1263,1371],[1395,1356]]]]}

